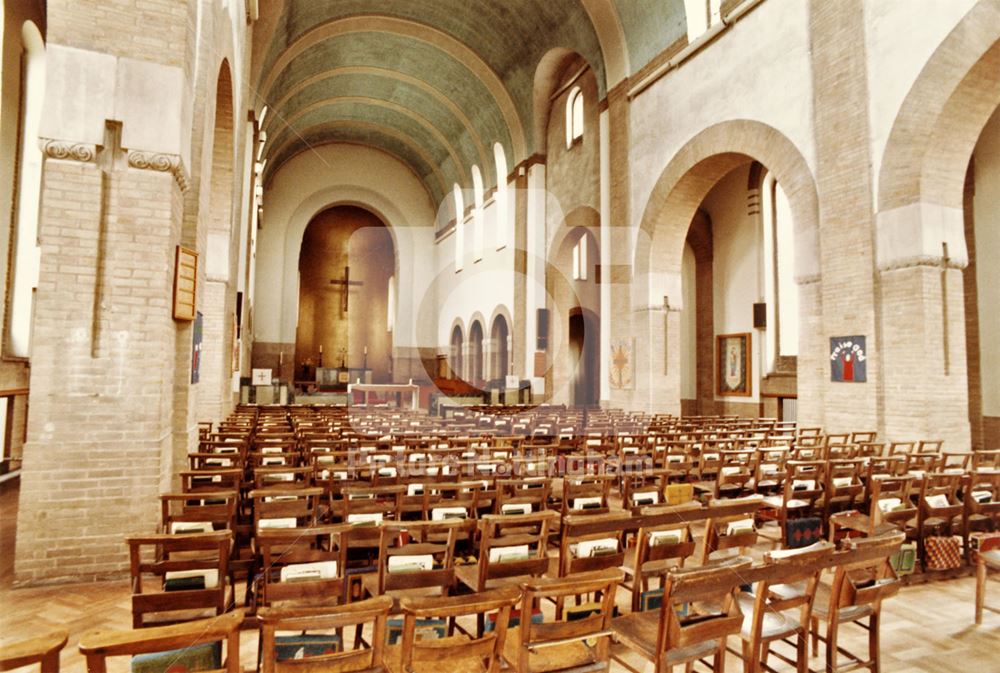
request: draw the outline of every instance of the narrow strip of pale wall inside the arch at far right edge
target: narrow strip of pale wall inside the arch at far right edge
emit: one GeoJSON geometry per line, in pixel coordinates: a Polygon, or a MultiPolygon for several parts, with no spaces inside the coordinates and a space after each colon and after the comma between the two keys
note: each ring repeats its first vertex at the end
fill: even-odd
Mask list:
{"type": "Polygon", "coordinates": [[[1000,109],[983,129],[973,157],[983,415],[1000,416],[1000,109]]]}

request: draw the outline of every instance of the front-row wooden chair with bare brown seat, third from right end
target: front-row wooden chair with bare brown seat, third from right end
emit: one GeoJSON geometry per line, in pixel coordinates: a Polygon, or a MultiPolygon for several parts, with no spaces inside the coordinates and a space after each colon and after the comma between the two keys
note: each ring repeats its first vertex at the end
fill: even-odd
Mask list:
{"type": "MultiPolygon", "coordinates": [[[[739,633],[743,616],[736,596],[748,558],[692,569],[671,570],[666,576],[659,610],[633,612],[611,621],[619,642],[653,662],[655,673],[667,673],[695,661],[713,657],[712,670],[725,671],[726,639],[739,633]],[[718,606],[704,613],[700,606],[718,606]],[[679,614],[683,613],[683,614],[679,614]]],[[[615,661],[638,673],[618,657],[615,661]]]]}

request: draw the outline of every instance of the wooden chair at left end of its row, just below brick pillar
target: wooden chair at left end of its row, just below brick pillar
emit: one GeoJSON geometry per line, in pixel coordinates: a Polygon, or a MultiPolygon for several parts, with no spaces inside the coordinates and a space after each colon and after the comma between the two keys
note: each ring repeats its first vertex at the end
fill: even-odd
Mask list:
{"type": "Polygon", "coordinates": [[[229,605],[232,531],[126,538],[132,582],[132,627],[190,621],[229,605]],[[150,580],[156,588],[151,590],[150,580]]]}

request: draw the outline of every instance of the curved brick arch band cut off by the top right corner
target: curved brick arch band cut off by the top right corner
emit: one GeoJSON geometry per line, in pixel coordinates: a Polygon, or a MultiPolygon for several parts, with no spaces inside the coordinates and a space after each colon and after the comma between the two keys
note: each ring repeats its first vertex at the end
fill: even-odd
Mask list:
{"type": "Polygon", "coordinates": [[[1000,4],[977,3],[924,65],[893,122],[880,212],[924,202],[962,207],[969,157],[1000,106],[1000,4]]]}

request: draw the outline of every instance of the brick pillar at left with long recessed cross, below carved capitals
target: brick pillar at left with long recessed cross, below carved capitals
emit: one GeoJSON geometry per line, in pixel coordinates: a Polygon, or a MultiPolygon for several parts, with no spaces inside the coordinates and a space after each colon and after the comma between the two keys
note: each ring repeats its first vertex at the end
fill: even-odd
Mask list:
{"type": "Polygon", "coordinates": [[[102,175],[93,145],[45,151],[18,582],[124,571],[171,448],[179,157],[133,151],[102,175]]]}

